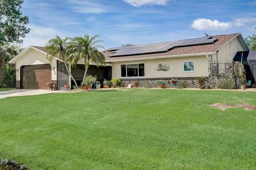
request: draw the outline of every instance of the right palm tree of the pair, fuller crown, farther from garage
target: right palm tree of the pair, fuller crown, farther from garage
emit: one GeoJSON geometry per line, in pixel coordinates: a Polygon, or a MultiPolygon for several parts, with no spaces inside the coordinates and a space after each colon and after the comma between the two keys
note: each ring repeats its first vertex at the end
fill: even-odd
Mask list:
{"type": "MultiPolygon", "coordinates": [[[[98,40],[99,36],[89,37],[89,35],[84,35],[84,37],[75,37],[71,41],[70,48],[68,49],[69,62],[76,66],[78,61],[84,60],[84,77],[83,82],[87,74],[87,70],[90,66],[90,62],[95,63],[97,66],[105,65],[105,56],[99,52],[98,49],[103,48],[99,45],[102,40],[98,40]]],[[[104,49],[104,48],[103,48],[104,49]]]]}

